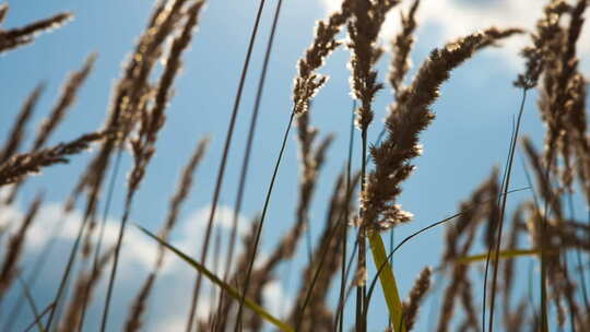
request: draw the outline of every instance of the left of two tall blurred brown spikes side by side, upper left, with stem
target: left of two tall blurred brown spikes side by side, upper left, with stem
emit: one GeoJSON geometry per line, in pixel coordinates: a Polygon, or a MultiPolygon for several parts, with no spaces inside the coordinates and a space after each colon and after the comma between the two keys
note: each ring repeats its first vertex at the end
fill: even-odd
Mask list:
{"type": "MultiPolygon", "coordinates": [[[[58,287],[55,300],[59,303],[66,288],[66,282],[72,271],[72,265],[78,254],[80,238],[86,228],[90,217],[94,214],[97,201],[103,188],[106,171],[110,164],[113,152],[121,146],[129,133],[139,122],[141,109],[145,108],[153,97],[153,88],[149,84],[152,70],[156,61],[162,57],[162,49],[165,40],[176,32],[176,22],[181,14],[185,1],[160,1],[153,12],[150,24],[140,37],[135,50],[130,60],[125,64],[122,78],[119,79],[114,97],[110,103],[109,114],[105,128],[107,131],[116,132],[117,135],[109,137],[101,146],[98,154],[88,164],[86,171],[80,177],[79,182],[68,199],[66,210],[75,205],[76,199],[82,192],[87,191],[87,202],[84,209],[83,223],[78,229],[78,237],[70,250],[68,265],[64,270],[60,286],[58,287]]],[[[121,151],[119,150],[119,156],[121,151]]],[[[101,240],[97,242],[99,249],[101,240]]],[[[99,250],[96,250],[98,252],[99,250]]],[[[94,261],[96,265],[97,261],[94,261]]],[[[49,315],[47,325],[52,323],[55,311],[49,315]]]]}

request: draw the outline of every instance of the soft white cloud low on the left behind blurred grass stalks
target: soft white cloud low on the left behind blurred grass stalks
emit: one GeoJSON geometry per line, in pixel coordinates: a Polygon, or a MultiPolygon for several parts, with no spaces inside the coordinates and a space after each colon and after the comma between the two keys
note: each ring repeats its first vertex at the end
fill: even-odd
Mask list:
{"type": "MultiPolygon", "coordinates": [[[[2,193],[0,192],[0,195],[2,193]]],[[[0,209],[0,225],[10,221],[17,223],[22,218],[23,211],[24,209],[20,208],[17,204],[2,206],[2,209],[0,209]]],[[[202,244],[201,240],[209,213],[210,206],[206,206],[189,213],[187,217],[179,220],[177,226],[179,232],[178,235],[173,238],[173,245],[181,250],[192,249],[189,251],[196,251],[196,248],[199,248],[202,244]]],[[[220,229],[223,233],[222,237],[227,239],[233,224],[233,210],[229,206],[221,205],[217,209],[216,215],[215,225],[221,227],[220,229]]],[[[68,250],[78,235],[81,221],[82,214],[80,211],[73,211],[63,218],[62,205],[60,203],[43,204],[37,214],[37,218],[27,232],[24,260],[34,260],[37,253],[44,249],[46,241],[55,235],[54,229],[59,229],[58,239],[63,246],[61,246],[61,249],[56,250],[49,259],[55,262],[54,265],[56,266],[64,265],[67,254],[69,253],[68,250]]],[[[115,245],[119,232],[119,218],[110,217],[107,220],[105,227],[105,246],[103,248],[115,245]]],[[[244,216],[238,217],[238,236],[244,235],[244,233],[248,230],[248,218],[244,216]]],[[[119,274],[116,286],[117,299],[114,308],[115,312],[122,313],[123,317],[128,311],[131,299],[137,294],[137,287],[143,282],[146,273],[151,271],[157,251],[157,244],[138,230],[132,225],[132,221],[129,221],[128,226],[123,247],[121,248],[119,274]]],[[[240,238],[238,238],[237,241],[238,247],[236,248],[236,254],[239,254],[241,251],[240,238]]],[[[212,252],[211,249],[210,252],[212,252]]],[[[194,252],[188,253],[194,256],[194,252]]],[[[157,316],[149,315],[149,319],[151,320],[149,329],[151,331],[181,331],[185,329],[187,312],[178,309],[184,309],[185,307],[188,308],[188,301],[190,299],[189,294],[191,292],[190,289],[192,289],[196,273],[188,264],[173,256],[174,254],[170,253],[167,254],[164,269],[158,280],[160,286],[156,286],[156,292],[151,300],[150,306],[153,306],[153,308],[150,310],[157,312],[157,316]]],[[[267,254],[260,252],[257,257],[257,263],[263,262],[266,258],[267,254]]],[[[221,253],[220,262],[222,262],[221,265],[225,262],[224,252],[221,253]]],[[[211,266],[211,262],[209,262],[208,265],[211,266]]],[[[223,271],[220,270],[221,269],[219,269],[216,273],[223,275],[223,271]]],[[[46,271],[46,273],[47,272],[49,271],[46,271]]],[[[104,275],[106,275],[106,273],[104,275]]],[[[208,312],[212,308],[211,304],[216,300],[216,297],[214,299],[210,298],[210,287],[212,287],[212,285],[206,280],[203,286],[203,295],[200,300],[198,316],[206,318],[208,312]]],[[[96,293],[102,294],[104,293],[103,289],[105,289],[104,277],[103,283],[96,293]]],[[[263,289],[263,296],[266,300],[264,307],[269,308],[270,312],[280,316],[280,313],[282,313],[279,312],[282,308],[281,304],[286,298],[281,284],[279,282],[271,282],[263,289]]],[[[113,323],[114,325],[117,325],[120,322],[114,321],[113,323]]]]}

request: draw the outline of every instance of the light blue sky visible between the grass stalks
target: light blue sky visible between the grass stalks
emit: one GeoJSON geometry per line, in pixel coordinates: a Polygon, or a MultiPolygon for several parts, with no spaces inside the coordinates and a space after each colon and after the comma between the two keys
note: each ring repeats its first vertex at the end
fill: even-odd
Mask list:
{"type": "MultiPolygon", "coordinates": [[[[59,11],[71,11],[75,19],[62,28],[43,34],[32,46],[0,57],[0,72],[2,73],[0,105],[3,110],[0,116],[2,123],[0,134],[5,137],[21,103],[39,81],[45,81],[48,86],[34,118],[35,123],[38,123],[56,102],[68,72],[78,69],[85,57],[93,51],[98,54],[95,69],[81,90],[71,114],[51,138],[51,143],[73,139],[83,132],[99,128],[108,110],[114,84],[120,76],[121,63],[145,26],[152,2],[148,0],[11,1],[11,9],[3,27],[20,26],[59,11]]],[[[262,208],[264,190],[279,152],[280,138],[291,111],[291,92],[296,61],[311,43],[314,22],[323,19],[328,11],[334,8],[335,2],[338,1],[287,0],[284,2],[260,110],[259,132],[252,152],[249,187],[243,210],[246,218],[253,216],[262,208]]],[[[458,0],[424,2],[418,14],[422,25],[417,31],[417,44],[412,55],[414,69],[420,66],[433,47],[444,45],[451,37],[486,27],[489,22],[498,22],[499,27],[518,24],[530,27],[541,13],[542,5],[539,4],[542,1],[507,0],[477,1],[479,4],[458,0]]],[[[202,224],[202,216],[199,215],[202,215],[203,211],[206,212],[208,203],[211,201],[224,134],[257,5],[257,1],[210,1],[208,3],[201,15],[199,32],[193,44],[185,54],[184,71],[176,82],[175,97],[167,110],[167,122],[160,135],[156,155],[137,194],[132,220],[151,229],[157,229],[165,216],[167,200],[176,186],[180,168],[188,159],[196,142],[206,134],[211,135],[212,144],[197,171],[193,193],[182,212],[184,223],[175,233],[175,241],[187,250],[190,248],[194,250],[200,246],[190,235],[199,237],[199,229],[194,225],[202,224]]],[[[252,109],[255,88],[274,5],[275,1],[269,1],[267,4],[261,34],[255,47],[250,75],[237,121],[236,139],[229,155],[225,186],[221,197],[223,205],[231,206],[235,200],[249,114],[252,109]]],[[[391,20],[386,23],[384,38],[397,33],[398,14],[399,12],[396,11],[391,20]]],[[[585,35],[588,36],[588,28],[585,29],[585,35]]],[[[582,40],[585,40],[585,35],[582,35],[582,40]]],[[[453,214],[458,203],[485,179],[492,167],[503,164],[509,143],[512,116],[520,102],[520,92],[512,87],[511,82],[520,71],[519,47],[528,42],[526,37],[515,39],[507,43],[507,47],[502,50],[482,51],[456,70],[450,81],[444,85],[441,97],[434,106],[437,118],[422,135],[424,154],[417,158],[417,170],[403,186],[404,190],[399,200],[405,210],[415,215],[415,221],[400,227],[398,238],[453,214]]],[[[587,45],[582,44],[580,47],[586,55],[590,50],[587,45]]],[[[379,63],[381,81],[387,74],[389,59],[389,54],[386,54],[379,63]]],[[[349,52],[345,49],[339,49],[329,58],[321,72],[330,75],[330,80],[318,94],[311,110],[311,122],[318,127],[320,134],[330,132],[337,134],[337,140],[328,153],[328,162],[320,176],[318,192],[310,212],[315,237],[322,228],[321,222],[327,209],[327,199],[346,157],[347,126],[352,103],[347,61],[349,52]]],[[[588,62],[582,62],[582,68],[588,72],[588,62]]],[[[528,99],[522,133],[531,135],[538,142],[538,146],[541,146],[543,127],[539,120],[534,98],[532,94],[528,99]]],[[[381,119],[389,103],[391,103],[391,93],[386,86],[375,103],[377,115],[369,133],[373,140],[381,129],[381,119]]],[[[33,127],[30,127],[30,134],[33,134],[33,127]]],[[[355,134],[358,135],[358,132],[356,131],[355,134]]],[[[356,141],[358,142],[358,139],[356,141]]],[[[359,146],[356,146],[356,156],[358,156],[358,151],[359,146]]],[[[50,209],[54,209],[70,192],[78,175],[87,162],[87,156],[88,154],[76,156],[72,158],[70,165],[52,167],[45,170],[42,176],[28,180],[19,199],[19,206],[26,206],[37,190],[45,188],[48,202],[47,215],[50,215],[50,209]]],[[[114,226],[121,213],[126,189],[123,179],[130,169],[130,162],[127,155],[122,167],[125,171],[119,177],[110,212],[114,226]]],[[[517,163],[520,164],[519,161],[517,163]]],[[[263,251],[271,250],[279,238],[276,235],[284,234],[294,221],[297,183],[297,142],[293,132],[263,230],[263,251]]],[[[527,186],[520,167],[517,167],[512,183],[515,188],[527,186]]],[[[511,200],[518,201],[527,198],[528,194],[517,193],[511,200]]],[[[38,221],[37,225],[39,223],[43,221],[38,221]]],[[[71,223],[73,227],[75,220],[71,223]]],[[[43,234],[39,229],[39,235],[33,237],[37,239],[38,246],[32,246],[27,252],[28,256],[34,256],[35,250],[40,248],[44,240],[43,234]]],[[[400,251],[396,264],[400,266],[397,270],[397,276],[403,294],[408,293],[414,277],[424,265],[436,265],[441,256],[442,234],[444,228],[432,230],[408,244],[400,251]]],[[[134,229],[128,238],[137,246],[153,245],[134,229]]],[[[67,240],[68,236],[64,236],[63,244],[57,252],[66,252],[67,240]]],[[[303,248],[304,246],[299,250],[292,271],[297,271],[296,269],[305,262],[303,248]]],[[[142,250],[138,251],[137,256],[143,257],[142,250]]],[[[60,254],[56,254],[54,259],[56,262],[62,260],[60,254]]],[[[149,263],[134,265],[134,261],[141,261],[141,259],[134,260],[130,256],[129,264],[125,264],[123,268],[126,273],[121,273],[122,282],[117,286],[125,290],[121,290],[116,298],[118,310],[115,310],[117,313],[113,320],[114,327],[120,323],[118,320],[125,318],[130,298],[134,295],[131,272],[135,271],[143,275],[141,273],[150,266],[149,263]]],[[[168,261],[174,261],[174,259],[169,258],[168,261]]],[[[158,311],[160,307],[154,306],[154,313],[151,315],[154,321],[150,323],[153,331],[161,327],[158,324],[176,322],[181,325],[184,322],[184,311],[186,311],[184,308],[189,300],[184,287],[190,286],[190,270],[181,266],[179,262],[170,262],[170,264],[160,283],[161,288],[169,292],[166,290],[163,295],[161,293],[164,290],[158,290],[158,296],[162,296],[164,303],[172,304],[172,307],[180,308],[176,311],[181,311],[181,315],[175,317],[174,310],[172,310],[173,313],[169,308],[162,308],[162,311],[158,311]],[[163,315],[155,312],[163,312],[163,315]]],[[[285,269],[279,270],[280,273],[285,273],[284,271],[285,269]]],[[[57,270],[46,271],[46,277],[35,289],[36,294],[39,294],[39,300],[48,299],[51,293],[47,289],[55,287],[55,278],[58,274],[57,270]]],[[[278,275],[278,277],[285,278],[284,275],[278,275]]],[[[294,276],[290,280],[295,282],[298,277],[294,276]]],[[[274,293],[275,297],[276,294],[284,293],[288,298],[297,292],[293,285],[281,285],[280,282],[273,287],[270,293],[274,293]]],[[[371,331],[381,329],[385,323],[384,319],[380,319],[386,312],[382,298],[378,296],[375,300],[376,303],[371,305],[374,319],[369,319],[371,331]]],[[[102,300],[97,303],[102,304],[102,300]]],[[[99,306],[95,308],[98,310],[99,306]]],[[[426,313],[424,310],[423,315],[426,313]]],[[[96,317],[93,315],[91,319],[93,318],[96,317]]],[[[88,331],[94,330],[88,328],[88,331]]]]}

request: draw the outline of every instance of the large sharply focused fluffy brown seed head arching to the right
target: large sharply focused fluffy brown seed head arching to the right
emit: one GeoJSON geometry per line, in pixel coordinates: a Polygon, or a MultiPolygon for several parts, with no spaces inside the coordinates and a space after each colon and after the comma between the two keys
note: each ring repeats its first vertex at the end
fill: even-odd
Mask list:
{"type": "Polygon", "coordinates": [[[391,106],[386,119],[388,137],[370,151],[376,167],[361,194],[362,224],[385,230],[411,220],[412,215],[394,204],[394,199],[401,192],[400,183],[414,168],[410,161],[422,153],[418,134],[434,120],[430,105],[450,71],[469,59],[482,43],[494,38],[496,35],[484,31],[435,49],[401,100],[391,106]]]}

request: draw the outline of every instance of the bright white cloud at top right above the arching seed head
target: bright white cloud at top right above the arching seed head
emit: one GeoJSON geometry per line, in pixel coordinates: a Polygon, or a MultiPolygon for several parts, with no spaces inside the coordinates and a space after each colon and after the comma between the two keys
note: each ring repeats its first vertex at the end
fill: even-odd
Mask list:
{"type": "MultiPolygon", "coordinates": [[[[340,7],[342,0],[323,0],[328,12],[340,7]]],[[[472,0],[422,0],[416,20],[420,25],[432,25],[436,27],[437,39],[440,39],[437,47],[447,40],[483,29],[489,26],[497,27],[521,27],[534,29],[534,25],[541,17],[543,7],[547,1],[541,0],[494,0],[494,1],[472,1],[472,0]]],[[[406,11],[412,1],[402,1],[401,8],[406,11]]],[[[391,11],[384,24],[382,37],[386,40],[400,31],[399,9],[391,11]]],[[[420,36],[420,32],[418,32],[420,36]]],[[[528,36],[511,37],[503,43],[503,47],[493,52],[507,60],[508,66],[520,70],[522,60],[519,51],[528,45],[528,36]]],[[[582,58],[581,68],[585,72],[590,69],[590,28],[585,26],[579,38],[578,51],[582,58]]]]}

